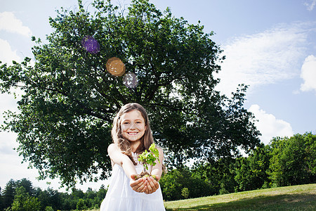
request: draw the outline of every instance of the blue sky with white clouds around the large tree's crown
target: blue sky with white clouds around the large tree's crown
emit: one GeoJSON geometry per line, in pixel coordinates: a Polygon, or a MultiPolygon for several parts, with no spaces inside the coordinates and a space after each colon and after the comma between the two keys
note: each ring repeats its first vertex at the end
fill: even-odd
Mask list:
{"type": "MultiPolygon", "coordinates": [[[[92,8],[91,1],[83,1],[92,8]]],[[[119,1],[113,1],[115,4],[119,1]]],[[[161,11],[167,6],[174,16],[189,23],[204,25],[205,32],[215,32],[213,41],[224,50],[226,60],[218,90],[235,91],[237,84],[249,84],[245,108],[254,113],[261,131],[261,141],[273,136],[316,133],[316,0],[152,0],[161,11]]],[[[128,5],[129,1],[120,1],[128,5]]],[[[0,1],[0,60],[22,61],[32,58],[31,36],[45,39],[52,32],[48,17],[64,7],[76,9],[77,1],[0,1]]],[[[17,110],[16,100],[0,95],[0,112],[17,110]]],[[[0,122],[4,119],[0,117],[0,122]]],[[[9,179],[30,179],[34,186],[48,187],[34,179],[37,170],[13,151],[16,134],[0,133],[0,186],[9,179]]],[[[106,150],[106,149],[105,149],[106,150]]],[[[51,187],[58,188],[58,180],[51,187]]],[[[98,189],[98,184],[88,186],[98,189]]]]}

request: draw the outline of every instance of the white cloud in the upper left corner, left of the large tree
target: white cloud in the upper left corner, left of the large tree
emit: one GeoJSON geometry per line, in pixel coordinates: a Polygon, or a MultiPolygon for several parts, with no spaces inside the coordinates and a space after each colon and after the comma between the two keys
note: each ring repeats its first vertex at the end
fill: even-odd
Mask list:
{"type": "Polygon", "coordinates": [[[22,34],[26,37],[32,36],[29,27],[24,26],[22,21],[16,18],[12,12],[0,13],[0,30],[22,34]]]}

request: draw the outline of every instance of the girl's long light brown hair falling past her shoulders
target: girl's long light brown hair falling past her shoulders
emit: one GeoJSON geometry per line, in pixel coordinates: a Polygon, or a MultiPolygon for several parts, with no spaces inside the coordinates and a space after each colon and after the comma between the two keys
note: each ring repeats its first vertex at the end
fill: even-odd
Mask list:
{"type": "Polygon", "coordinates": [[[141,113],[145,120],[146,126],[145,134],[142,138],[140,138],[140,146],[138,146],[138,148],[136,149],[136,153],[143,153],[143,151],[148,150],[150,148],[150,145],[154,143],[148,115],[145,108],[143,108],[143,106],[140,106],[140,104],[138,103],[128,103],[121,107],[113,120],[112,139],[113,142],[117,144],[117,146],[119,146],[121,152],[125,155],[128,155],[129,158],[131,158],[133,164],[136,165],[136,162],[133,160],[133,157],[131,155],[131,143],[129,143],[129,141],[126,140],[121,134],[121,115],[124,115],[124,113],[129,113],[133,110],[138,110],[141,113]]]}

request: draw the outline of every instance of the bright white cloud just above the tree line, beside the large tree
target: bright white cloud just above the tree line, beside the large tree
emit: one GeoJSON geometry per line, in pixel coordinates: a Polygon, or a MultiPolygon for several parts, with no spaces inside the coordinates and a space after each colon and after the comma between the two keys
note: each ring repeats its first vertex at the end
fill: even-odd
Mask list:
{"type": "Polygon", "coordinates": [[[284,120],[278,120],[274,115],[266,113],[260,109],[258,105],[251,105],[249,108],[251,113],[254,113],[256,120],[255,125],[261,132],[261,141],[265,144],[270,143],[273,137],[277,136],[293,136],[291,124],[284,120]]]}

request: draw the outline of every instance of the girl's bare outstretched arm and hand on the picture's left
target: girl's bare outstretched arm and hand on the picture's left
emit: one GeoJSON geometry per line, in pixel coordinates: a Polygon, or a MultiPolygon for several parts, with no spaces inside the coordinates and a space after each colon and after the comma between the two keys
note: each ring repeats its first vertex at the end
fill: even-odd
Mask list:
{"type": "Polygon", "coordinates": [[[121,153],[116,144],[111,143],[107,148],[107,153],[111,158],[111,162],[120,165],[127,177],[131,179],[130,186],[136,192],[145,192],[147,190],[147,181],[146,179],[140,178],[135,180],[135,175],[137,174],[135,166],[133,162],[129,158],[129,156],[121,153]]]}

